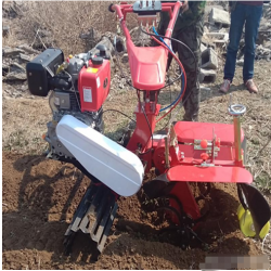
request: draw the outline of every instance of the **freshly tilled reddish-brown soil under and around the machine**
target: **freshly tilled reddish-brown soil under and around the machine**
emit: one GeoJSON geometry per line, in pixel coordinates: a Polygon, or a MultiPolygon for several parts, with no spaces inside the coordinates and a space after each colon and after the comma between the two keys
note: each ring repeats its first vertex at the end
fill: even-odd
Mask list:
{"type": "MultiPolygon", "coordinates": [[[[217,184],[210,214],[198,229],[208,243],[183,251],[178,234],[158,234],[155,212],[138,196],[119,199],[118,216],[106,248],[91,262],[94,244],[79,235],[73,255],[63,255],[63,235],[90,181],[73,166],[40,156],[3,153],[3,269],[198,269],[209,253],[258,255],[257,243],[238,230],[233,185],[217,184]]],[[[140,194],[139,194],[140,196],[140,194]]]]}

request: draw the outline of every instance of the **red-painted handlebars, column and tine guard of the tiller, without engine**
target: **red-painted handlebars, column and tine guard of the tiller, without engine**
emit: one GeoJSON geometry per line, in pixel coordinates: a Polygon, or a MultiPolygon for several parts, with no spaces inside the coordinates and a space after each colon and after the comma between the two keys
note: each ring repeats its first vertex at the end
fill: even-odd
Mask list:
{"type": "MultiPolygon", "coordinates": [[[[180,2],[162,3],[162,10],[169,12],[170,22],[165,36],[170,38],[175,22],[179,14],[180,2]]],[[[199,209],[190,190],[189,182],[227,182],[227,183],[250,183],[251,175],[244,169],[243,159],[235,157],[237,152],[234,137],[234,126],[223,124],[202,122],[177,122],[175,126],[176,143],[169,146],[169,166],[166,163],[165,140],[151,139],[151,131],[154,133],[156,117],[160,105],[157,104],[157,92],[165,86],[166,64],[168,50],[160,43],[155,48],[139,48],[131,40],[126,25],[127,13],[132,13],[131,4],[113,5],[126,36],[127,50],[133,87],[144,93],[134,111],[137,116],[136,130],[127,145],[127,149],[139,154],[142,163],[146,166],[145,173],[154,166],[160,173],[167,173],[169,181],[176,182],[171,194],[177,196],[183,205],[184,211],[193,219],[199,218],[199,209]],[[155,99],[151,94],[155,93],[155,99]],[[147,122],[147,120],[149,122],[147,122]],[[214,132],[217,139],[214,139],[214,132]],[[212,141],[211,163],[207,150],[195,149],[195,140],[212,141]],[[219,142],[219,144],[217,144],[219,142]],[[215,145],[215,143],[217,145],[215,145]],[[215,157],[215,147],[219,146],[215,157]],[[209,166],[208,166],[209,165],[209,166]]],[[[165,39],[170,46],[170,40],[165,39]]],[[[180,63],[179,63],[180,64],[180,63]]],[[[180,64],[181,65],[181,64],[180,64]]],[[[158,119],[159,120],[159,119],[158,119]]],[[[244,140],[244,132],[241,132],[241,141],[244,140]]],[[[204,145],[204,144],[203,144],[204,145]]],[[[178,204],[170,199],[171,206],[178,209],[178,204]]],[[[173,219],[175,220],[175,219],[173,219]]]]}

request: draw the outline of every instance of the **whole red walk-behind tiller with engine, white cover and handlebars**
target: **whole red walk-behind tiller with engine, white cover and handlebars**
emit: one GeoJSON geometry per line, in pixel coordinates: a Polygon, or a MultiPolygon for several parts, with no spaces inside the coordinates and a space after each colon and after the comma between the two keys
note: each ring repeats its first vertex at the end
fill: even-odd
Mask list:
{"type": "Polygon", "coordinates": [[[90,234],[102,251],[116,216],[118,197],[138,193],[144,175],[152,168],[157,177],[144,183],[143,191],[150,198],[168,199],[165,209],[182,229],[182,248],[189,246],[191,237],[197,237],[194,230],[202,218],[192,183],[236,183],[243,233],[263,238],[269,231],[270,207],[251,185],[253,176],[244,164],[246,139],[240,117],[245,106],[229,106],[233,125],[177,121],[168,126],[166,133],[155,133],[156,124],[176,108],[186,86],[183,66],[171,51],[171,34],[180,7],[180,1],[138,1],[109,7],[126,36],[131,85],[139,100],[136,129],[124,134],[122,145],[103,136],[102,105],[111,86],[106,48],[99,47],[95,54],[90,51],[70,55],[66,61],[60,49],[47,49],[27,65],[29,91],[47,96],[51,90],[53,119],[43,136],[50,146],[48,157],[74,164],[91,179],[65,233],[66,249],[80,230],[90,234]],[[165,37],[150,34],[147,27],[162,11],[170,15],[165,37]],[[146,26],[143,31],[158,47],[133,44],[126,25],[128,13],[138,14],[142,30],[146,26]],[[180,66],[182,90],[170,106],[162,108],[157,101],[159,90],[165,87],[168,54],[180,66]],[[165,109],[167,113],[159,116],[165,109]]]}

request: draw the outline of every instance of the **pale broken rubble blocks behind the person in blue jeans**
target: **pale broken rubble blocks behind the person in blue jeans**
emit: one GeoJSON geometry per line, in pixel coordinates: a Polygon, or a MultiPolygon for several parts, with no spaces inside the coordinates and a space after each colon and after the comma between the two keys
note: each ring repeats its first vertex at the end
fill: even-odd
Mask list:
{"type": "MultiPolygon", "coordinates": [[[[207,5],[204,36],[202,40],[202,69],[201,82],[216,80],[216,69],[218,68],[217,53],[225,52],[229,42],[230,14],[227,5],[207,5]],[[207,49],[206,49],[207,48],[207,49]],[[218,48],[220,50],[218,50],[218,48]],[[206,51],[208,50],[208,51],[206,51]]],[[[245,39],[244,31],[240,42],[240,53],[237,65],[244,64],[245,39]]],[[[263,5],[263,16],[261,18],[257,47],[256,60],[271,60],[271,4],[263,5]]]]}

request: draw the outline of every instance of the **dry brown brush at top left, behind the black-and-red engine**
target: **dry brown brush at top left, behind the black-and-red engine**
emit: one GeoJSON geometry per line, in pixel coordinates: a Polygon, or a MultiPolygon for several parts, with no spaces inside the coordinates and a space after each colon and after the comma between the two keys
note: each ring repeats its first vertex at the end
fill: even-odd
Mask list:
{"type": "MultiPolygon", "coordinates": [[[[3,39],[3,46],[14,47],[26,42],[41,50],[57,47],[65,54],[86,52],[95,46],[102,34],[116,33],[116,15],[108,11],[112,2],[17,1],[17,15],[11,21],[12,35],[3,39]],[[88,39],[80,38],[81,34],[89,33],[88,39]]],[[[11,18],[14,3],[7,2],[4,5],[4,16],[11,18]]],[[[134,27],[134,16],[128,17],[128,27],[134,27]]]]}

